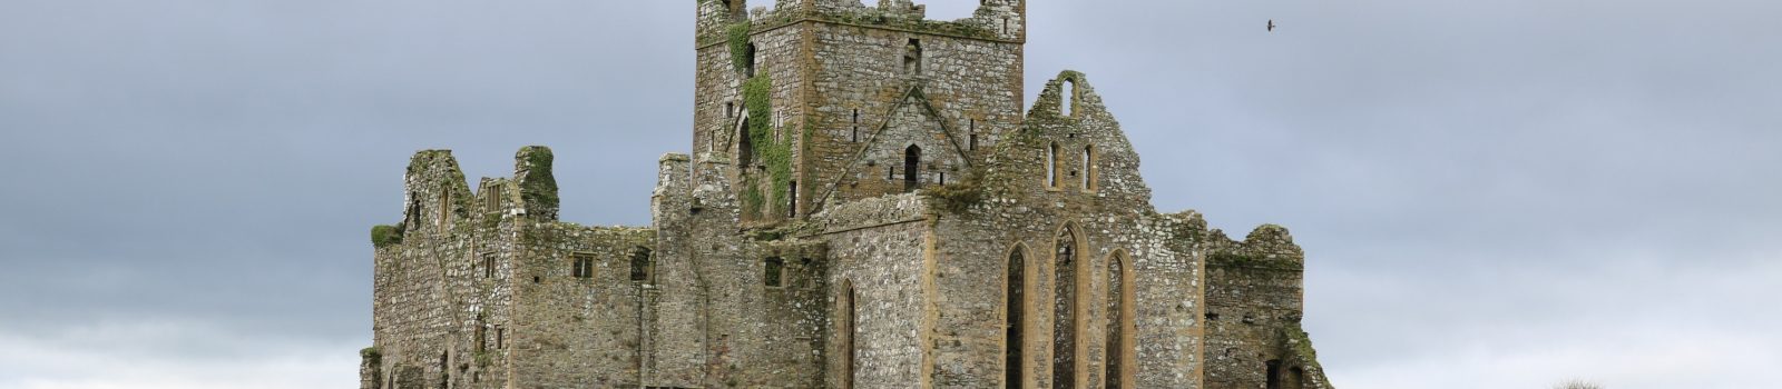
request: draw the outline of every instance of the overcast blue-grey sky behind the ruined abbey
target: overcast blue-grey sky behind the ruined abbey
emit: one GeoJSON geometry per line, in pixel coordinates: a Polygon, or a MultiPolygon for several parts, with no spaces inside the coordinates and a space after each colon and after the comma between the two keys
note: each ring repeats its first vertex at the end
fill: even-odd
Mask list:
{"type": "MultiPolygon", "coordinates": [[[[1085,71],[1160,210],[1292,229],[1336,385],[1775,385],[1782,2],[1028,7],[1028,91],[1085,71]]],[[[408,156],[551,146],[565,220],[645,226],[691,18],[0,2],[0,387],[355,387],[408,156]]]]}

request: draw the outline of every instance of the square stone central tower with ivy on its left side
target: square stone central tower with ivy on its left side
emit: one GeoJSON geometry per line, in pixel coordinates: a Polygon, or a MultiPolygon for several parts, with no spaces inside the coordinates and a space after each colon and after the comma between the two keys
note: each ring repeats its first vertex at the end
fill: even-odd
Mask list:
{"type": "Polygon", "coordinates": [[[747,224],[959,181],[1021,126],[1021,0],[955,21],[909,0],[748,7],[700,0],[693,105],[693,151],[731,162],[747,224]]]}

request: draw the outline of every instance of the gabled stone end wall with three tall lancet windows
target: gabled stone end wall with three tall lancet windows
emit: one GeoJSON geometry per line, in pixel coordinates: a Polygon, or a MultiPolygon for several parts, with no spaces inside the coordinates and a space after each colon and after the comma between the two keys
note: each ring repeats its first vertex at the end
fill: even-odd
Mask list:
{"type": "Polygon", "coordinates": [[[1173,218],[1151,210],[1137,167],[1119,124],[1082,75],[1066,73],[1041,92],[1026,130],[1000,144],[984,178],[969,183],[982,199],[941,217],[936,385],[1007,380],[1007,268],[1012,252],[1021,252],[1019,378],[1026,385],[1199,387],[1199,256],[1174,234],[1173,218]],[[1066,82],[1076,83],[1075,92],[1066,82]],[[1059,110],[1066,98],[1075,112],[1059,110]],[[1060,153],[1050,153],[1053,144],[1060,153]],[[1082,149],[1094,151],[1083,158],[1082,149]],[[1046,179],[1048,167],[1057,181],[1046,179]],[[1067,266],[1064,245],[1073,250],[1067,266]],[[987,275],[998,281],[984,282],[987,275]],[[1110,314],[1114,306],[1123,320],[1110,314]],[[1119,336],[1110,341],[1110,334],[1119,336]],[[1124,362],[1110,371],[1112,361],[1124,362]]]}

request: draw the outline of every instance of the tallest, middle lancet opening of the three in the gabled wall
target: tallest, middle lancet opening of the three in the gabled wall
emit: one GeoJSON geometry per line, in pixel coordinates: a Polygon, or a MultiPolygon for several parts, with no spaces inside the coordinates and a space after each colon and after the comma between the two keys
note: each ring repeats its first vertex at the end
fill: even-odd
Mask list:
{"type": "Polygon", "coordinates": [[[1059,233],[1053,250],[1051,384],[1076,387],[1076,231],[1059,233]]]}

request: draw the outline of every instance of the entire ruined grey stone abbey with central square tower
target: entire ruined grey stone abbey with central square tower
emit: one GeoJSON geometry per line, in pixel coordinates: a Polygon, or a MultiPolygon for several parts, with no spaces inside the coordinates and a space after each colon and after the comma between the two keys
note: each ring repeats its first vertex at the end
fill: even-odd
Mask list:
{"type": "Polygon", "coordinates": [[[649,227],[560,222],[545,147],[476,183],[413,156],[362,387],[1329,387],[1287,229],[1157,211],[1080,73],[1026,105],[1023,0],[699,0],[695,28],[649,227]]]}

